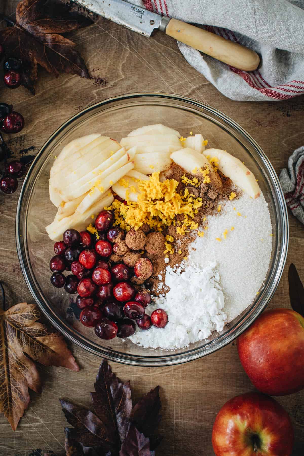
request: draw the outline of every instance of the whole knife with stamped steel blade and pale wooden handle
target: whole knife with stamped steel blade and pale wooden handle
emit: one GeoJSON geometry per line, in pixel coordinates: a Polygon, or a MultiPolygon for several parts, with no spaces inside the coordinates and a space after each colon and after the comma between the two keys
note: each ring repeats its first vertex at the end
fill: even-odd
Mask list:
{"type": "Polygon", "coordinates": [[[159,29],[166,35],[239,70],[254,71],[260,62],[260,57],[252,49],[186,22],[160,16],[124,0],[76,1],[93,13],[136,31],[140,35],[150,37],[154,29],[159,29]]]}

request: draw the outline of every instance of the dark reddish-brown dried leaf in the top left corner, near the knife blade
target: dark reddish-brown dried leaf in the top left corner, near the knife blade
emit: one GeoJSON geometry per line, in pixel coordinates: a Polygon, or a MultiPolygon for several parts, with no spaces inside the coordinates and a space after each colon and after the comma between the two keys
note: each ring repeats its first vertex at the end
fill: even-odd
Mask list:
{"type": "Polygon", "coordinates": [[[38,63],[58,77],[72,73],[89,78],[75,43],[59,35],[92,24],[80,14],[74,15],[67,5],[46,5],[47,0],[22,0],[17,5],[16,23],[0,31],[0,42],[6,55],[22,62],[22,85],[35,94],[38,63]],[[56,13],[56,17],[52,17],[56,13]]]}

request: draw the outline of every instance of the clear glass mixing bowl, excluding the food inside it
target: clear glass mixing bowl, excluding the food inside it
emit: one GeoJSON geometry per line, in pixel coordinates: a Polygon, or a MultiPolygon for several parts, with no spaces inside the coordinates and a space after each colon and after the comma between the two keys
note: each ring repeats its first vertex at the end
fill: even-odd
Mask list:
{"type": "Polygon", "coordinates": [[[26,283],[37,305],[51,323],[71,341],[86,350],[126,364],[163,366],[200,358],[224,347],[239,336],[261,313],[281,278],[288,248],[288,218],[283,192],[270,161],[255,140],[220,111],[193,99],[166,93],[131,93],[96,103],[67,120],[46,141],[28,171],[19,198],[16,217],[18,255],[26,283]],[[120,139],[142,125],[163,123],[181,135],[201,133],[208,146],[232,151],[258,178],[268,202],[273,226],[271,262],[259,295],[221,333],[189,347],[165,351],[146,349],[118,338],[102,341],[68,312],[75,295],[50,283],[49,261],[53,242],[45,226],[56,208],[48,194],[48,178],[55,155],[71,140],[89,133],[120,139]]]}

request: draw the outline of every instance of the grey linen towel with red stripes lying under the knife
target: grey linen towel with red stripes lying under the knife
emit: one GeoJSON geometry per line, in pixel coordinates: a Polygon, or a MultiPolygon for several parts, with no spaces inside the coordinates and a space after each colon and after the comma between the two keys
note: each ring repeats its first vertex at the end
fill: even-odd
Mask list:
{"type": "Polygon", "coordinates": [[[187,61],[233,100],[285,100],[304,93],[304,0],[130,0],[200,25],[258,52],[247,73],[178,42],[187,61]]]}

